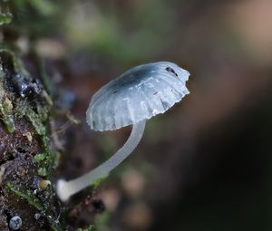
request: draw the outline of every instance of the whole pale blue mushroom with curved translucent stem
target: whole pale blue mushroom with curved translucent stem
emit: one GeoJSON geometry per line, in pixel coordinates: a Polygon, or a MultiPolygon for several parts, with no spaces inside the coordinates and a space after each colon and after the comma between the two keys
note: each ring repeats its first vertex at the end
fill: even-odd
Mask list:
{"type": "Polygon", "coordinates": [[[146,120],[169,110],[189,94],[189,72],[175,63],[147,63],[131,68],[92,96],[86,112],[92,130],[118,130],[132,125],[131,136],[112,157],[82,177],[59,179],[56,192],[62,201],[107,176],[139,144],[146,120]]]}

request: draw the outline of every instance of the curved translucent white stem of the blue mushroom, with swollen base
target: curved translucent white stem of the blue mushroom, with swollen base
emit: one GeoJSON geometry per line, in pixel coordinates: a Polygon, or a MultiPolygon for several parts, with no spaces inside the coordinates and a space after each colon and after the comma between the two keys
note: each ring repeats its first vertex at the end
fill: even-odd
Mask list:
{"type": "Polygon", "coordinates": [[[56,193],[58,197],[60,197],[62,201],[67,201],[75,193],[78,193],[84,188],[92,185],[95,180],[107,176],[112,169],[116,168],[121,161],[126,159],[137,147],[144,131],[145,121],[146,120],[141,120],[133,125],[129,139],[124,143],[121,149],[112,155],[110,159],[103,162],[102,165],[94,168],[92,171],[79,178],[69,181],[59,179],[56,185],[56,193]]]}

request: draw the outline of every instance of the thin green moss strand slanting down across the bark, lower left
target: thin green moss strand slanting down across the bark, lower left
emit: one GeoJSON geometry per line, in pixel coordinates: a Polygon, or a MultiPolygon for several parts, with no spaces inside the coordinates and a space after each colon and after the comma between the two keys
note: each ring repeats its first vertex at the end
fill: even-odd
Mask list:
{"type": "Polygon", "coordinates": [[[8,188],[18,197],[22,197],[23,199],[25,199],[30,206],[33,206],[40,211],[44,211],[44,207],[42,206],[40,200],[35,197],[33,192],[31,192],[30,190],[15,187],[9,182],[6,184],[5,188],[8,188]]]}

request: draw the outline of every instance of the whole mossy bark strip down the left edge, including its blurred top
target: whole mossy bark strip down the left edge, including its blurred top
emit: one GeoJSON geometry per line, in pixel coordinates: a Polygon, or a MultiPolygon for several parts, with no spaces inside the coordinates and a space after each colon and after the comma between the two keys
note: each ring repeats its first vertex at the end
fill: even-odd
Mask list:
{"type": "Polygon", "coordinates": [[[0,230],[11,230],[15,216],[20,230],[66,228],[51,183],[60,154],[51,139],[53,101],[33,47],[21,55],[16,45],[22,34],[29,41],[40,35],[46,5],[35,3],[0,3],[0,230]]]}

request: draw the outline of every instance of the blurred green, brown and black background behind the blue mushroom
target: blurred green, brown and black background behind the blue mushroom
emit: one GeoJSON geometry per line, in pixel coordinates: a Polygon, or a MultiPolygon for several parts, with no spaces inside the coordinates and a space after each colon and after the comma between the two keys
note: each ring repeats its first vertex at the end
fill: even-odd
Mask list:
{"type": "MultiPolygon", "coordinates": [[[[191,74],[190,94],[148,121],[140,146],[95,190],[104,211],[93,218],[86,209],[75,226],[272,230],[272,1],[29,3],[43,16],[24,28],[18,45],[23,52],[34,45],[62,88],[62,103],[82,121],[67,133],[65,178],[102,163],[130,134],[86,125],[86,108],[104,83],[156,61],[191,74]]],[[[18,22],[31,17],[23,7],[18,22]]]]}

